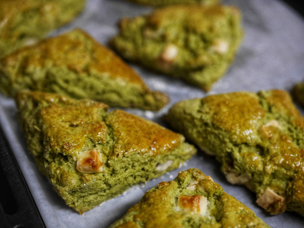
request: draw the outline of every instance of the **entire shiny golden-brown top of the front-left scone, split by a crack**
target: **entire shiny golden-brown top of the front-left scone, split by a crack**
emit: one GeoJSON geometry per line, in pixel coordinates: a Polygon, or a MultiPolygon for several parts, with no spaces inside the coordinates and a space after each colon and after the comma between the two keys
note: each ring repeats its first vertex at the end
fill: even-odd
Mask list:
{"type": "MultiPolygon", "coordinates": [[[[114,159],[134,153],[166,154],[183,142],[182,135],[122,110],[107,113],[108,106],[43,92],[20,92],[17,107],[27,99],[37,107],[43,133],[55,153],[77,157],[88,143],[100,143],[101,151],[114,159]]],[[[89,147],[87,148],[89,149],[89,147]]]]}

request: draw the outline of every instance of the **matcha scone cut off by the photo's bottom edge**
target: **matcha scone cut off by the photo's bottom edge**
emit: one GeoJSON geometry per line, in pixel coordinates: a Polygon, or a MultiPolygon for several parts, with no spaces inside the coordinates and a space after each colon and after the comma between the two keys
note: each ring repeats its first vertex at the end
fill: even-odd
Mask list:
{"type": "Polygon", "coordinates": [[[199,169],[159,183],[109,228],[268,227],[199,169]]]}

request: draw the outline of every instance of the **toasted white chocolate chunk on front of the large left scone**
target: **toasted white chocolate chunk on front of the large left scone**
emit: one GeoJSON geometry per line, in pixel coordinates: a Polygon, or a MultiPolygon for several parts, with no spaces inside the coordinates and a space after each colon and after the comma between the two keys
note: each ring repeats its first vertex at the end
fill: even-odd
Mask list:
{"type": "Polygon", "coordinates": [[[98,150],[80,151],[77,157],[76,169],[81,173],[100,173],[102,172],[102,157],[98,150]]]}

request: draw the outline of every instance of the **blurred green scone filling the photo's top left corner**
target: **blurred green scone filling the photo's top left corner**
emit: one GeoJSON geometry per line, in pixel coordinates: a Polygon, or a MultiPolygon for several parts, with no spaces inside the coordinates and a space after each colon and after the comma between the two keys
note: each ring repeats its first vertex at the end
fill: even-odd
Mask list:
{"type": "Polygon", "coordinates": [[[85,0],[1,0],[0,58],[73,20],[85,0]]]}

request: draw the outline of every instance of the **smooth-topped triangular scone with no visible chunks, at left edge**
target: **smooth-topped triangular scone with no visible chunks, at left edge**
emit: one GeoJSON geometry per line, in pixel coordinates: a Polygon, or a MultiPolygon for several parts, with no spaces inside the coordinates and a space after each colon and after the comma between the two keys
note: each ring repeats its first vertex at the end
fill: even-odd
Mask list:
{"type": "Polygon", "coordinates": [[[23,48],[0,60],[0,90],[22,89],[88,98],[110,106],[161,109],[168,96],[150,91],[111,50],[75,29],[23,48]]]}

